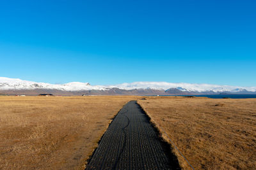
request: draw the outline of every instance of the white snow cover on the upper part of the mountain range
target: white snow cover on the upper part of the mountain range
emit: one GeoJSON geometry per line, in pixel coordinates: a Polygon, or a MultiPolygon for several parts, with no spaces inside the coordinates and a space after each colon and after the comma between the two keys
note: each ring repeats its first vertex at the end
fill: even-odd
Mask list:
{"type": "Polygon", "coordinates": [[[37,83],[35,81],[20,80],[19,78],[0,77],[0,90],[33,90],[33,89],[54,89],[67,91],[81,90],[108,90],[118,88],[122,90],[132,89],[154,89],[167,90],[178,89],[188,92],[256,92],[256,87],[234,87],[228,85],[211,85],[211,84],[196,84],[196,83],[168,83],[164,81],[136,81],[132,83],[122,83],[118,85],[90,85],[89,83],[70,82],[65,84],[50,84],[37,83]]]}

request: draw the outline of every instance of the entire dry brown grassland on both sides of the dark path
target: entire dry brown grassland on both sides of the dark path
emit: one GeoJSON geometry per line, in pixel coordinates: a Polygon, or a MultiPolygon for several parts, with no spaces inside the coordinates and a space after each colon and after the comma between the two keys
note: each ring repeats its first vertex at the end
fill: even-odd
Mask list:
{"type": "Polygon", "coordinates": [[[84,169],[111,119],[134,99],[195,169],[256,169],[256,99],[140,98],[0,96],[0,169],[84,169]]]}

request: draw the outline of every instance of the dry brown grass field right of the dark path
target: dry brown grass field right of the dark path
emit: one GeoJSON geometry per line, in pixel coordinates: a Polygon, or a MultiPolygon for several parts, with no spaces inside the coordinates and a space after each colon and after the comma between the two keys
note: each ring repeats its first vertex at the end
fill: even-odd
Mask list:
{"type": "Polygon", "coordinates": [[[256,99],[146,98],[138,103],[195,169],[256,169],[256,99]]]}

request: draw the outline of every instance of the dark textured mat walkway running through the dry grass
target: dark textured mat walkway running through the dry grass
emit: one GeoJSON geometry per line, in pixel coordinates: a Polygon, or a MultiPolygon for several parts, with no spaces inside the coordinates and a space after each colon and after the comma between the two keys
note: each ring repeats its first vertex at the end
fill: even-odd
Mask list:
{"type": "Polygon", "coordinates": [[[179,169],[136,101],[114,118],[86,169],[179,169]]]}

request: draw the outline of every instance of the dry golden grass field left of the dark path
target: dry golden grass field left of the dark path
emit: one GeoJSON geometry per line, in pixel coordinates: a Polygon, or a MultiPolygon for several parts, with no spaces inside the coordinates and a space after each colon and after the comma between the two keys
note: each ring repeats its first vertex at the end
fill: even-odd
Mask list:
{"type": "Polygon", "coordinates": [[[84,169],[132,96],[0,96],[0,169],[84,169]]]}

